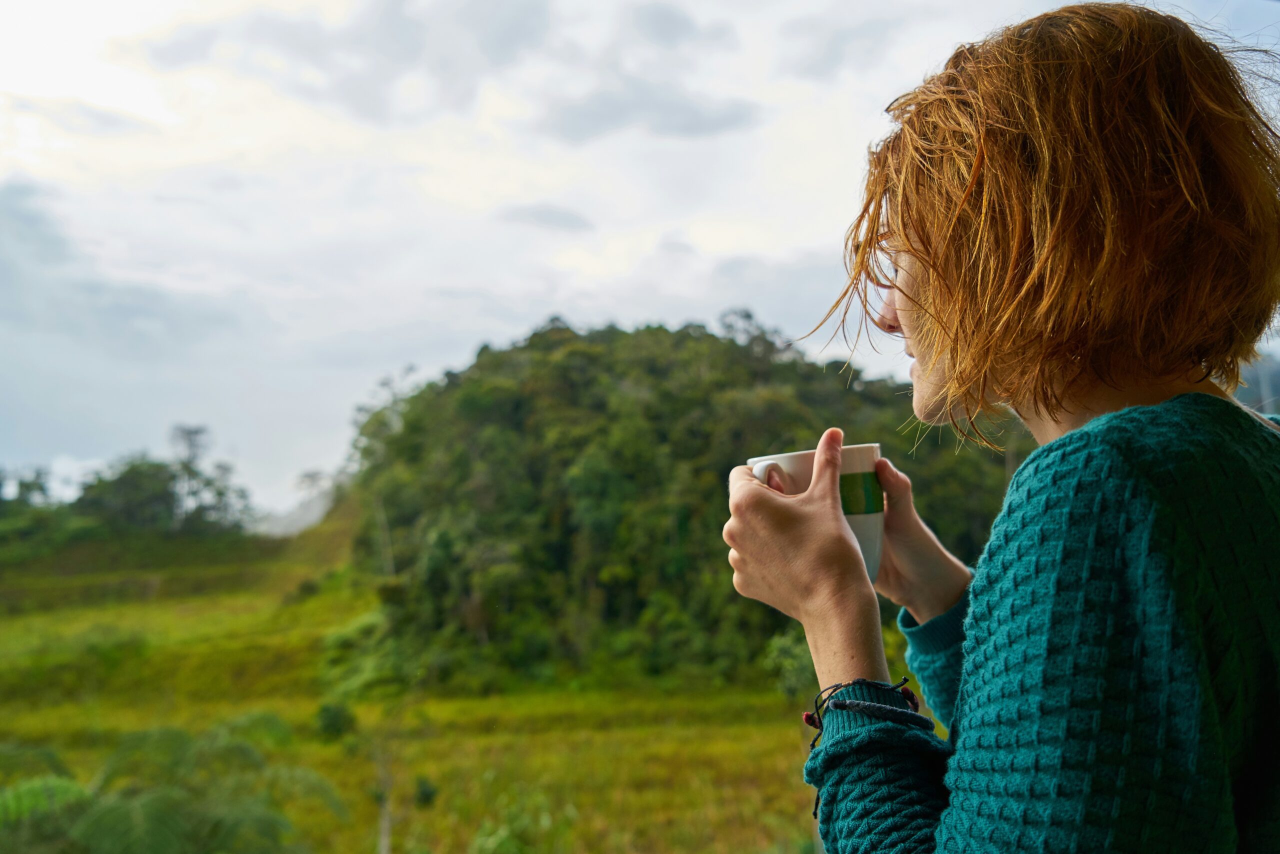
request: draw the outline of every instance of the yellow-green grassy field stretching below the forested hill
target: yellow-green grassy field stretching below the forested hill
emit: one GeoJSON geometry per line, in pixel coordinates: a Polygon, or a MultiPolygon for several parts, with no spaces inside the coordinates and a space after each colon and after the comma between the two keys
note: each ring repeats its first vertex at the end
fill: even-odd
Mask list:
{"type": "MultiPolygon", "coordinates": [[[[296,734],[279,759],[323,773],[349,812],[300,804],[305,840],[374,851],[376,766],[315,726],[323,639],[375,606],[340,570],[346,525],[339,515],[265,557],[204,567],[0,575],[0,741],[54,746],[83,780],[124,732],[271,711],[296,734]]],[[[782,854],[812,850],[801,704],[771,685],[567,686],[356,713],[360,731],[390,739],[399,853],[525,850],[495,840],[543,822],[559,840],[547,850],[782,854]],[[438,789],[426,807],[420,776],[438,789]]]]}

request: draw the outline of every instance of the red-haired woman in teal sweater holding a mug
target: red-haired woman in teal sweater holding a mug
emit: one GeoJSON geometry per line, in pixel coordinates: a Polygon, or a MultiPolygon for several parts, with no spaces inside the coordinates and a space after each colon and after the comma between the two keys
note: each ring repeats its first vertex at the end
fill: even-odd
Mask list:
{"type": "Polygon", "coordinates": [[[733,585],[838,689],[806,716],[827,851],[1280,851],[1280,419],[1229,394],[1280,303],[1280,137],[1128,4],[965,45],[890,113],[828,318],[878,286],[916,416],[1039,447],[972,572],[877,463],[874,590],[946,740],[890,685],[841,431],[803,494],[733,470],[733,585]]]}

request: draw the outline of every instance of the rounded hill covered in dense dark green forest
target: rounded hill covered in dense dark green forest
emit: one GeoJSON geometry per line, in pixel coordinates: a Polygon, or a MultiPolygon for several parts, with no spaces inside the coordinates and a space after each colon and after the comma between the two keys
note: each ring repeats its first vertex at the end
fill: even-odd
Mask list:
{"type": "Polygon", "coordinates": [[[387,577],[384,631],[430,681],[745,673],[791,622],[731,583],[724,484],[748,457],[812,448],[827,426],[879,442],[942,540],[980,552],[1005,461],[918,430],[909,392],[805,361],[745,312],[723,334],[552,319],[367,412],[357,565],[387,577]]]}

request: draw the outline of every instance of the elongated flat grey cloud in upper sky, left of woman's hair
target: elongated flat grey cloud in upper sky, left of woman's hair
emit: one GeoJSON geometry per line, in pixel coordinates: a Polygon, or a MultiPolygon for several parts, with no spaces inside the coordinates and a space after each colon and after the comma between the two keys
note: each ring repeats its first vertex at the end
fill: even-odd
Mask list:
{"type": "Polygon", "coordinates": [[[579,99],[553,104],[540,128],[566,142],[586,142],[626,128],[667,137],[708,137],[758,122],[759,106],[745,99],[700,95],[678,82],[618,73],[579,99]]]}

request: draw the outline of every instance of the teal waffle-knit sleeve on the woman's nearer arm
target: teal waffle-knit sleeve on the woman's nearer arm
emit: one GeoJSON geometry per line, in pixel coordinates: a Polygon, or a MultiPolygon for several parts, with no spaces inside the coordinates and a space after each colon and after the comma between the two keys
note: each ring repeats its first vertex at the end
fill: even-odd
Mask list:
{"type": "MultiPolygon", "coordinates": [[[[1196,780],[1196,670],[1143,643],[1148,629],[1174,632],[1167,612],[1135,600],[1152,583],[1137,566],[1151,504],[1119,465],[1102,452],[1015,478],[970,584],[948,740],[826,713],[804,776],[828,854],[1234,850],[1217,822],[1198,821],[1224,804],[1196,780]]],[[[858,689],[905,703],[887,686],[858,689]]]]}

